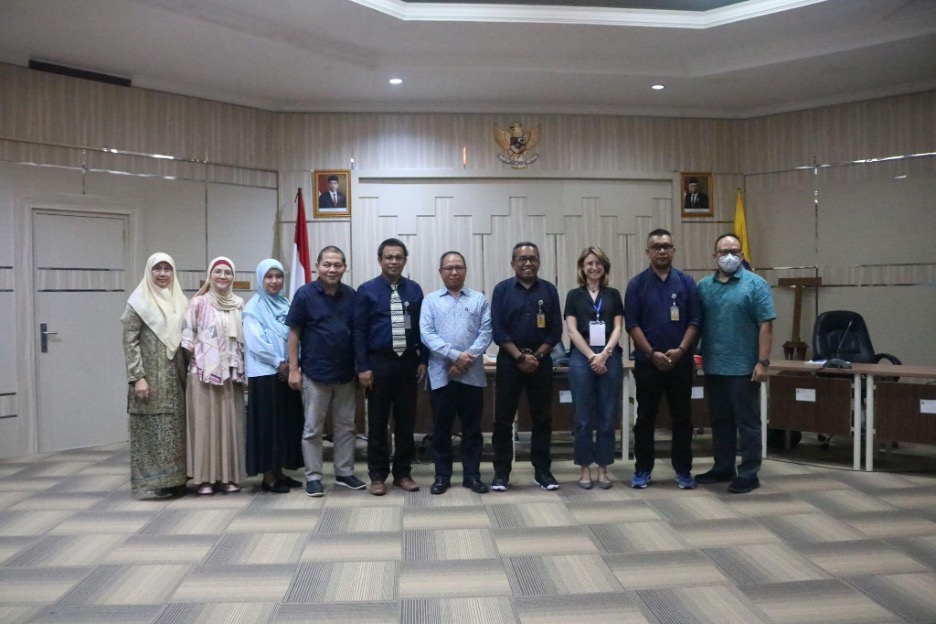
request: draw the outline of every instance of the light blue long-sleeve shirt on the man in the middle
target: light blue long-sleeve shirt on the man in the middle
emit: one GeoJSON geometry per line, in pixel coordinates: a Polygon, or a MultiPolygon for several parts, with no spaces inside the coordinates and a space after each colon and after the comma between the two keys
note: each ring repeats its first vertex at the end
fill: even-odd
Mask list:
{"type": "Polygon", "coordinates": [[[458,296],[441,288],[423,299],[419,316],[423,344],[429,349],[429,383],[432,389],[449,382],[448,370],[462,352],[474,363],[457,381],[483,388],[484,351],[491,344],[491,305],[483,294],[462,288],[458,296]]]}

